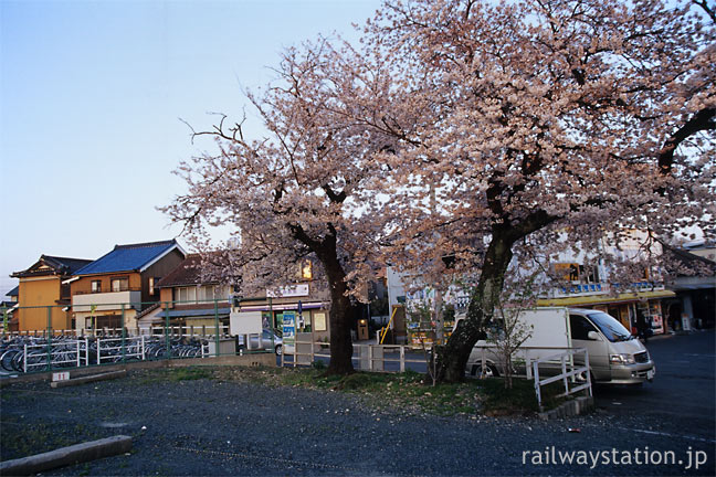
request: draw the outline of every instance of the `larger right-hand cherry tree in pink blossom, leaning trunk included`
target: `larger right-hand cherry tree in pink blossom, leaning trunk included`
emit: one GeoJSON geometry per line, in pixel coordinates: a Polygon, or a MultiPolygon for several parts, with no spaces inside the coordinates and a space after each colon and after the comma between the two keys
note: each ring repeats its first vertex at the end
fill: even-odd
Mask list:
{"type": "Polygon", "coordinates": [[[463,378],[517,256],[714,231],[716,44],[697,3],[389,0],[366,25],[402,92],[366,118],[401,145],[378,155],[393,261],[475,279],[440,379],[463,378]]]}

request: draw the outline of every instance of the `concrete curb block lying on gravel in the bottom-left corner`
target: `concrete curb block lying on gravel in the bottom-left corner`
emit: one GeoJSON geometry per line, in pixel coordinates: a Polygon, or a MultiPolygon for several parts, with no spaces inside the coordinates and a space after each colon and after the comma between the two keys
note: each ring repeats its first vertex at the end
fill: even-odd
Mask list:
{"type": "Polygon", "coordinates": [[[0,463],[3,476],[27,476],[43,470],[96,460],[131,451],[131,437],[118,435],[99,441],[61,447],[48,453],[0,463]]]}

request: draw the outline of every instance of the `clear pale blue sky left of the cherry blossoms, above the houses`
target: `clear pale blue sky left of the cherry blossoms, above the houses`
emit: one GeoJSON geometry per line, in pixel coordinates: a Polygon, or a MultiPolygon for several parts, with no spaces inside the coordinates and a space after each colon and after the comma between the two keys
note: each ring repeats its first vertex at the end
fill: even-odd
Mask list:
{"type": "MultiPolygon", "coordinates": [[[[285,46],[371,17],[379,0],[0,0],[0,299],[42,254],[98,258],[173,237],[156,206],[209,148],[182,118],[240,117],[285,46]]],[[[249,126],[259,123],[250,117],[249,126]]]]}

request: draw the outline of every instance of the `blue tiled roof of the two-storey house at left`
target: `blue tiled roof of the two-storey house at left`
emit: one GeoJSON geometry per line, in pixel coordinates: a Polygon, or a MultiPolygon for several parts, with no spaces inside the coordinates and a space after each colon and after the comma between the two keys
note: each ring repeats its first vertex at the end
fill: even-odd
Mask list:
{"type": "Polygon", "coordinates": [[[95,275],[140,271],[145,265],[177,246],[177,241],[115,245],[108,254],[80,268],[74,275],[95,275]]]}

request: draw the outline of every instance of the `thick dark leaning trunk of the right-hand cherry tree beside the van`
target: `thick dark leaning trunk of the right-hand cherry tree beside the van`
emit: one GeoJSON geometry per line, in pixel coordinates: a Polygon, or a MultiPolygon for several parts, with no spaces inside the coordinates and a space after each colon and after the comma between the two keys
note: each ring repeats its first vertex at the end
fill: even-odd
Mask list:
{"type": "Polygon", "coordinates": [[[460,320],[444,347],[438,349],[438,381],[460,382],[477,340],[485,338],[484,328],[493,318],[505,280],[505,272],[513,257],[514,240],[496,230],[487,247],[477,286],[467,307],[467,316],[460,320]]]}

